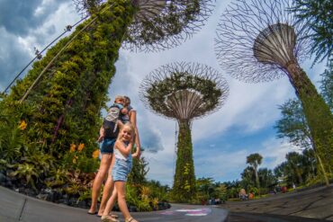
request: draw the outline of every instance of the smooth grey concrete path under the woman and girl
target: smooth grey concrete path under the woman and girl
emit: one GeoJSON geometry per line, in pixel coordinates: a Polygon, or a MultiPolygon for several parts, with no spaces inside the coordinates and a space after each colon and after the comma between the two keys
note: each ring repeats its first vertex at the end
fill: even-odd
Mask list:
{"type": "MultiPolygon", "coordinates": [[[[21,193],[0,187],[0,222],[99,222],[100,218],[88,215],[87,209],[76,209],[48,201],[37,200],[21,193]]],[[[121,221],[124,221],[120,213],[121,221]]],[[[226,221],[228,211],[207,206],[173,204],[171,209],[147,213],[132,213],[144,221],[226,221]]]]}

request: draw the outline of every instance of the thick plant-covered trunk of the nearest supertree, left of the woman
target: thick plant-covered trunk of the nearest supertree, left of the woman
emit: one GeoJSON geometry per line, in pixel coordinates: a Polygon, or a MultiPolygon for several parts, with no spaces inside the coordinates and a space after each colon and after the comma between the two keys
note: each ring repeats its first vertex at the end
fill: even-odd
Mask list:
{"type": "Polygon", "coordinates": [[[58,157],[70,143],[95,147],[100,107],[107,101],[114,63],[134,13],[130,0],[104,4],[101,13],[92,15],[72,35],[49,49],[46,57],[13,87],[7,100],[20,100],[41,70],[76,36],[24,101],[33,110],[25,117],[34,123],[29,130],[31,141],[43,138],[45,147],[58,157]]]}

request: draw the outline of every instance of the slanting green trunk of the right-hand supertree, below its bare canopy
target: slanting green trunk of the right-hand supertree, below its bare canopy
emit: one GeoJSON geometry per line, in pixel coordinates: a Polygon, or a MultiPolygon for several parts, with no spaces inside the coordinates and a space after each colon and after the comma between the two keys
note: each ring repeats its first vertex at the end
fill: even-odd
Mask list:
{"type": "Polygon", "coordinates": [[[322,163],[320,169],[324,174],[331,173],[333,165],[333,115],[298,63],[290,64],[287,71],[289,80],[302,102],[304,115],[309,124],[311,138],[318,155],[316,155],[317,162],[322,163]]]}

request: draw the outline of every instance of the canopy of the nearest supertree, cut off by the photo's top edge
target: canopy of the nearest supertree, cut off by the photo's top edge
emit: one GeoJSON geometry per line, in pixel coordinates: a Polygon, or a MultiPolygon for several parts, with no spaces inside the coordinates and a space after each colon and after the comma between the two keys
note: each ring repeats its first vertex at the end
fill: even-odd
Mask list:
{"type": "MultiPolygon", "coordinates": [[[[85,15],[103,0],[73,0],[85,15]]],[[[214,8],[215,0],[132,0],[138,8],[122,43],[123,49],[150,52],[171,49],[200,31],[214,8]]]]}

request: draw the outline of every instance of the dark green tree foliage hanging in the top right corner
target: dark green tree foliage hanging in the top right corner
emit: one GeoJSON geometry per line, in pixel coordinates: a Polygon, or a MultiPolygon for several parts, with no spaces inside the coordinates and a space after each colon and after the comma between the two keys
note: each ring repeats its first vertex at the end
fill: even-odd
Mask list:
{"type": "Polygon", "coordinates": [[[311,54],[316,61],[332,58],[333,49],[333,2],[329,0],[293,0],[291,12],[296,14],[297,22],[306,23],[305,29],[311,38],[311,54]]]}

